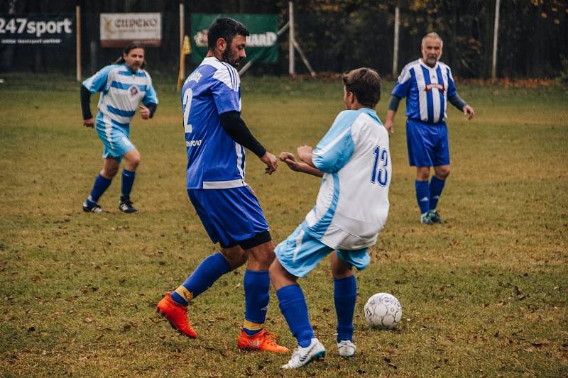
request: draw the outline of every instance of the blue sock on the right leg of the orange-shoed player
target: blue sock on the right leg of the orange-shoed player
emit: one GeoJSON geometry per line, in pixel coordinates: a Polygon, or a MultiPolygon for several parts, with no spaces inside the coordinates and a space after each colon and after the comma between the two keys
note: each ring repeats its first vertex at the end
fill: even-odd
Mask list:
{"type": "Polygon", "coordinates": [[[262,330],[266,321],[270,301],[271,279],[268,270],[246,270],[244,272],[244,331],[254,335],[262,330]]]}

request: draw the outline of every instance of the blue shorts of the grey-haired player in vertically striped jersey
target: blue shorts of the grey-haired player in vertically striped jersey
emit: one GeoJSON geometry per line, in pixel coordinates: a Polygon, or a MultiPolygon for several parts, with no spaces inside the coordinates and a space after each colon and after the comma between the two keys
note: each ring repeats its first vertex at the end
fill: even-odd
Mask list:
{"type": "Polygon", "coordinates": [[[408,119],[406,145],[410,166],[449,165],[448,128],[445,122],[432,124],[408,119]]]}

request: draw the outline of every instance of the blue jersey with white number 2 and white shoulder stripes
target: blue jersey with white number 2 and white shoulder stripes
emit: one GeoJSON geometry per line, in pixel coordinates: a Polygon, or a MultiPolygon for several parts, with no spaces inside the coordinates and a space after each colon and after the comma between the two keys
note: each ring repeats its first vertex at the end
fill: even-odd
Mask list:
{"type": "Polygon", "coordinates": [[[219,115],[241,111],[239,72],[216,57],[206,57],[182,89],[187,148],[187,189],[246,186],[245,152],[226,133],[219,115]]]}

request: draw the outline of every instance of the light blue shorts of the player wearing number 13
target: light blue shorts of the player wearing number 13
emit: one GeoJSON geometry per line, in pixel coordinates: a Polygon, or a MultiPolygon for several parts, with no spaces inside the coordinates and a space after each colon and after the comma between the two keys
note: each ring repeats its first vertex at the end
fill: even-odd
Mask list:
{"type": "MultiPolygon", "coordinates": [[[[295,231],[274,250],[280,265],[296,277],[306,277],[324,257],[333,251],[333,248],[329,248],[320,240],[305,233],[302,225],[297,226],[295,231]]],[[[337,250],[337,256],[358,270],[365,269],[371,262],[367,248],[337,250]]]]}

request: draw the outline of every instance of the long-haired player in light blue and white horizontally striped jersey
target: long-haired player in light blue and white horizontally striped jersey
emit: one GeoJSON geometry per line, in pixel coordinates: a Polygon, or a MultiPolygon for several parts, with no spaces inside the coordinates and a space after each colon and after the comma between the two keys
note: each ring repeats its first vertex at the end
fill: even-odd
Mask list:
{"type": "Polygon", "coordinates": [[[130,141],[130,121],[138,106],[142,119],[152,118],[158,106],[152,78],[143,70],[144,65],[144,49],[141,45],[131,43],[114,65],[104,67],[82,83],[83,125],[89,128],[96,126],[97,135],[103,144],[102,171],[94,180],[91,194],[83,203],[83,211],[103,211],[97,202],[119,172],[124,158],[119,210],[124,213],[136,212],[130,193],[141,157],[130,141]],[[97,92],[101,92],[101,97],[95,123],[89,102],[91,94],[97,92]]]}

